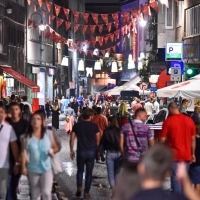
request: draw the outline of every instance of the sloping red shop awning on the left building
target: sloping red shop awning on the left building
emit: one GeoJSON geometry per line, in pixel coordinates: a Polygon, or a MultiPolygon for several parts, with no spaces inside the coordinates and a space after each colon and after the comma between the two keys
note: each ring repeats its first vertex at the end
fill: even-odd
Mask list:
{"type": "Polygon", "coordinates": [[[0,66],[0,68],[6,74],[8,74],[9,76],[11,76],[14,79],[16,79],[18,82],[23,83],[24,85],[29,87],[31,89],[31,92],[40,92],[40,87],[36,83],[32,82],[31,80],[29,80],[25,76],[21,75],[20,73],[18,73],[15,70],[13,70],[11,67],[0,66]]]}

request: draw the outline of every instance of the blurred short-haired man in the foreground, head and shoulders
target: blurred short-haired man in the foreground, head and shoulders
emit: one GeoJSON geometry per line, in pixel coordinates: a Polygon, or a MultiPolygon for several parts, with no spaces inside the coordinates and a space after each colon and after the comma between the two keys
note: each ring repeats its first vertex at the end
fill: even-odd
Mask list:
{"type": "Polygon", "coordinates": [[[162,188],[172,163],[173,155],[169,148],[160,145],[150,148],[137,168],[141,177],[141,190],[131,200],[186,200],[182,194],[170,193],[162,188]]]}

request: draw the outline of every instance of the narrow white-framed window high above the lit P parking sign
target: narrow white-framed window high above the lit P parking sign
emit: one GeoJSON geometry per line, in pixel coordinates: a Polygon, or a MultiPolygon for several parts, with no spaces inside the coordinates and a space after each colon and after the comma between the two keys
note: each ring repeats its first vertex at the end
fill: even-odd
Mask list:
{"type": "Polygon", "coordinates": [[[165,29],[173,29],[174,28],[174,0],[168,0],[169,8],[165,8],[165,29]]]}

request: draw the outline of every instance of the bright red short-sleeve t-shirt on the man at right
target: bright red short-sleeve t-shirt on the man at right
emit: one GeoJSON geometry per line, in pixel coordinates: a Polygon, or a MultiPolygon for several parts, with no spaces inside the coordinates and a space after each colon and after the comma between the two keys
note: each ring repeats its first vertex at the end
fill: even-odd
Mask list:
{"type": "Polygon", "coordinates": [[[160,132],[160,136],[166,137],[166,143],[174,153],[174,161],[191,161],[191,138],[195,135],[194,122],[184,114],[175,114],[167,118],[160,132]]]}

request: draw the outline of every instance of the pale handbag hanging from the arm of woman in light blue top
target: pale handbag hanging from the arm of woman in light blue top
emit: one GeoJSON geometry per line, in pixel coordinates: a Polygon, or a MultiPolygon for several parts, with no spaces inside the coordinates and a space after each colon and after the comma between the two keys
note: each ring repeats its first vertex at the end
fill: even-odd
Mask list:
{"type": "MultiPolygon", "coordinates": [[[[55,139],[54,139],[54,136],[53,136],[52,131],[47,130],[47,133],[48,133],[48,136],[49,136],[49,138],[50,138],[50,140],[51,140],[51,143],[53,144],[53,141],[54,141],[55,139]]],[[[51,165],[52,165],[52,170],[53,170],[53,174],[54,174],[54,175],[57,175],[57,174],[60,174],[60,173],[63,172],[60,159],[59,159],[56,155],[53,155],[53,156],[51,157],[51,165]]]]}

